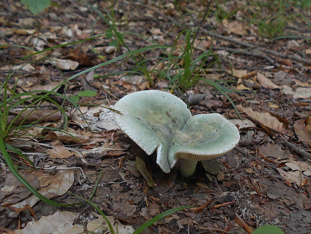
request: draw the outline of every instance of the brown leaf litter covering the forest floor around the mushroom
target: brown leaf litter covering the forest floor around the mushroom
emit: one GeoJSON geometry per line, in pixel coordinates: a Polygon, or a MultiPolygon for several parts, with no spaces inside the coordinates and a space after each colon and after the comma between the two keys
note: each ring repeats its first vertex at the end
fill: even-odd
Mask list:
{"type": "MultiPolygon", "coordinates": [[[[109,9],[107,2],[96,4],[98,9],[109,9]]],[[[204,12],[204,7],[199,2],[181,4],[189,10],[198,10],[199,6],[199,12],[204,12]]],[[[245,1],[237,1],[237,5],[242,7],[245,1]]],[[[219,6],[225,11],[237,8],[230,2],[219,6]]],[[[219,6],[213,3],[211,8],[217,11],[219,6]]],[[[27,12],[23,5],[20,3],[13,5],[11,1],[7,1],[7,5],[1,7],[10,8],[9,13],[27,12]]],[[[173,38],[178,38],[180,29],[173,26],[176,21],[180,21],[180,14],[172,3],[164,5],[155,3],[149,6],[139,2],[131,4],[119,1],[112,7],[115,10],[119,30],[130,30],[150,37],[159,44],[164,44],[166,40],[172,42],[171,38],[167,38],[168,30],[172,30],[175,34],[173,38]],[[128,21],[126,26],[123,24],[125,19],[128,21]],[[163,24],[161,28],[158,22],[163,24]]],[[[213,40],[208,33],[203,43],[195,41],[196,55],[214,45],[219,57],[227,56],[219,65],[212,67],[207,77],[229,81],[231,88],[241,91],[230,97],[239,108],[242,120],[238,119],[228,99],[212,86],[200,84],[189,90],[191,94],[206,96],[199,101],[191,102],[193,115],[221,113],[239,127],[241,140],[235,150],[200,164],[193,177],[184,179],[176,170],[172,170],[169,174],[164,173],[155,163],[154,155],[150,155],[148,160],[137,157],[141,161],[139,166],[136,166],[135,156],[138,153],[136,155],[133,153],[134,150],[130,147],[132,142],[117,129],[112,113],[106,109],[80,106],[83,116],[74,108],[67,109],[69,127],[64,132],[59,132],[41,128],[57,127],[58,121],[62,118],[59,112],[55,112],[57,111],[55,106],[45,103],[44,109],[38,112],[24,112],[21,117],[27,116],[28,121],[36,121],[46,115],[49,115],[49,118],[41,119],[44,123],[29,127],[26,130],[29,135],[24,135],[23,141],[18,137],[12,138],[12,145],[16,145],[29,155],[37,168],[37,170],[24,169],[20,172],[43,195],[59,202],[74,203],[80,200],[71,193],[90,197],[99,171],[102,170],[103,176],[99,178],[92,201],[108,215],[113,225],[118,226],[119,233],[122,233],[123,228],[129,231],[124,233],[131,233],[154,215],[183,205],[199,208],[197,212],[186,209],[171,214],[154,223],[145,230],[145,233],[182,233],[188,230],[191,233],[225,233],[226,230],[245,233],[236,221],[235,213],[252,228],[260,224],[277,224],[287,233],[308,232],[311,226],[309,215],[311,163],[303,156],[310,154],[311,145],[309,99],[311,75],[308,44],[303,39],[293,39],[289,42],[278,40],[277,43],[271,41],[265,44],[259,48],[261,49],[259,52],[253,53],[248,50],[248,54],[229,55],[233,52],[231,49],[242,48],[245,42],[260,43],[255,26],[241,23],[243,17],[247,17],[256,9],[249,12],[243,9],[237,11],[236,17],[228,17],[216,26],[217,32],[212,36],[217,37],[217,40],[213,40]],[[230,37],[221,38],[218,34],[230,37]],[[232,38],[239,40],[236,42],[234,41],[236,39],[232,38]],[[268,54],[269,51],[266,50],[273,51],[275,48],[288,55],[296,54],[300,48],[299,57],[303,58],[300,57],[299,61],[295,60],[296,57],[286,59],[281,54],[274,53],[275,60],[271,61],[269,60],[271,57],[267,59],[262,56],[262,51],[268,54]],[[50,115],[53,112],[55,115],[50,115]],[[305,154],[299,154],[293,148],[284,146],[282,141],[294,144],[305,154]],[[150,187],[148,184],[155,186],[150,187]]],[[[41,28],[33,27],[34,17],[26,19],[27,14],[20,15],[19,21],[11,22],[2,15],[1,45],[9,42],[42,50],[86,39],[92,35],[92,30],[94,34],[100,34],[108,29],[103,22],[98,22],[92,29],[93,20],[97,15],[78,3],[63,6],[61,9],[50,7],[49,10],[51,11],[39,15],[41,28]],[[43,17],[44,14],[49,18],[43,17]],[[59,23],[60,18],[65,24],[59,23]],[[24,27],[25,24],[28,25],[28,29],[17,29],[24,27]]],[[[194,15],[198,13],[197,10],[193,11],[194,15]]],[[[189,20],[189,16],[184,17],[189,20]]],[[[215,25],[216,22],[216,17],[212,16],[208,18],[206,24],[215,25]]],[[[301,22],[296,22],[297,30],[302,29],[301,32],[306,32],[304,27],[301,22]]],[[[291,27],[283,30],[288,34],[296,33],[291,27]]],[[[309,35],[306,33],[304,36],[309,35]]],[[[14,66],[13,69],[21,69],[17,87],[19,92],[51,90],[63,80],[62,75],[70,77],[89,66],[102,63],[103,60],[108,61],[122,55],[122,50],[118,50],[117,47],[107,52],[110,42],[110,38],[102,37],[92,42],[81,43],[79,47],[57,48],[45,54],[51,61],[38,54],[36,57],[38,61],[26,66],[14,65],[18,59],[31,52],[27,52],[24,48],[7,46],[5,50],[1,50],[6,52],[0,59],[3,63],[0,67],[3,74],[1,80],[5,80],[7,72],[14,66]],[[57,63],[63,73],[59,73],[51,62],[57,63]]],[[[146,43],[135,36],[126,36],[126,42],[132,50],[141,48],[141,45],[146,43]]],[[[177,41],[177,45],[183,45],[183,41],[177,41]]],[[[161,53],[150,51],[143,56],[155,58],[161,53]]],[[[180,52],[176,53],[175,56],[180,52]]],[[[89,77],[77,77],[70,81],[66,87],[66,95],[70,97],[80,91],[94,90],[97,92],[95,97],[80,97],[79,101],[111,107],[121,97],[134,91],[170,90],[170,82],[159,80],[160,72],[165,71],[168,65],[159,64],[160,67],[152,59],[147,64],[149,71],[158,71],[152,73],[153,86],[141,74],[109,75],[134,68],[134,62],[128,59],[123,64],[118,64],[118,67],[109,64],[94,70],[94,73],[88,74],[89,77]]],[[[182,61],[179,64],[182,65],[182,61]]],[[[168,73],[170,76],[176,74],[174,68],[170,69],[171,74],[168,73]]],[[[12,118],[21,113],[21,110],[16,109],[10,113],[12,118]]],[[[13,152],[11,154],[17,156],[13,152]]],[[[20,166],[30,166],[25,159],[16,158],[16,163],[20,166]]],[[[11,230],[25,227],[16,230],[16,233],[35,233],[34,230],[46,233],[40,229],[45,227],[44,230],[48,230],[49,233],[78,233],[86,230],[109,233],[105,221],[93,212],[94,209],[85,204],[67,210],[51,208],[31,195],[13,174],[6,172],[3,163],[1,166],[0,226],[11,230]],[[32,220],[27,209],[14,213],[19,208],[26,207],[26,204],[33,209],[38,221],[32,220]],[[19,220],[21,225],[18,224],[19,220]]]]}

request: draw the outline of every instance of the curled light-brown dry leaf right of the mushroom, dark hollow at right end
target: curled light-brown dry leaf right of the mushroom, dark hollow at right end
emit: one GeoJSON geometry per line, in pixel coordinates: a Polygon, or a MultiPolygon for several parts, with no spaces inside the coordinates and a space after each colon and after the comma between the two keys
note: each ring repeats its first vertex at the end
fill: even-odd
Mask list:
{"type": "Polygon", "coordinates": [[[250,117],[251,120],[257,122],[260,125],[264,125],[269,129],[284,134],[288,133],[289,122],[286,119],[281,118],[271,112],[257,112],[253,111],[251,107],[243,108],[243,111],[250,117]]]}

